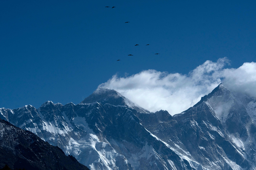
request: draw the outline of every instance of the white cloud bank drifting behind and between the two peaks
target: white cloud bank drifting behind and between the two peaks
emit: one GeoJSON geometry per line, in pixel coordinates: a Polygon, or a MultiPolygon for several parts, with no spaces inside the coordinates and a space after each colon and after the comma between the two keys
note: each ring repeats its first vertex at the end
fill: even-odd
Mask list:
{"type": "Polygon", "coordinates": [[[239,68],[224,68],[229,60],[206,61],[186,74],[144,70],[129,77],[113,75],[98,88],[115,89],[151,112],[167,110],[181,113],[196,104],[221,82],[229,90],[256,97],[256,63],[245,62],[239,68]]]}

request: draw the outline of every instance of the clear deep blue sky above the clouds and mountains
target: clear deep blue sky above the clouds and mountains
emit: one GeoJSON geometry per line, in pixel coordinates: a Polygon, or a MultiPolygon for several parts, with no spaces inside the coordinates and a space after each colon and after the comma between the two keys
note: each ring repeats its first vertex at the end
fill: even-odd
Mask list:
{"type": "Polygon", "coordinates": [[[255,0],[0,0],[0,108],[77,104],[116,73],[222,57],[255,62],[255,0]]]}

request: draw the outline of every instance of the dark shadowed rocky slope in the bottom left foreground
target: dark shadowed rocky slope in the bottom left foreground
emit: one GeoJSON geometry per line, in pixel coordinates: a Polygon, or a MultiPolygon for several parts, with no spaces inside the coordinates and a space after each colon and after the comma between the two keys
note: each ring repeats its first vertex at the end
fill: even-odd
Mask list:
{"type": "Polygon", "coordinates": [[[59,147],[0,119],[0,167],[5,165],[26,170],[89,170],[59,147]]]}

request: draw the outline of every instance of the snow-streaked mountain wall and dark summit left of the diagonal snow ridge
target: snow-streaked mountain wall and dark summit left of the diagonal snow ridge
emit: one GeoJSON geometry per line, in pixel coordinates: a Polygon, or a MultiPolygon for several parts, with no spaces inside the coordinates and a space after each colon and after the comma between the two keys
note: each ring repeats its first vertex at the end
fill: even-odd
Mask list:
{"type": "Polygon", "coordinates": [[[107,96],[103,93],[103,101],[92,100],[91,103],[77,105],[68,103],[64,106],[48,101],[38,109],[32,106],[14,110],[1,108],[0,113],[1,117],[8,118],[16,126],[30,130],[50,144],[59,146],[67,155],[74,155],[91,170],[133,170],[145,167],[168,170],[171,166],[191,169],[187,161],[164,146],[162,148],[165,148],[165,152],[176,155],[174,160],[167,156],[173,162],[170,165],[166,156],[160,154],[163,152],[160,147],[154,146],[155,140],[158,145],[165,144],[150,135],[134,115],[137,110],[143,114],[148,111],[115,91],[110,92],[107,96]],[[118,98],[118,103],[115,103],[118,98]],[[102,104],[104,101],[112,101],[116,105],[102,104]],[[154,149],[149,152],[149,148],[154,149]],[[151,160],[151,163],[148,164],[147,160],[151,160]]]}

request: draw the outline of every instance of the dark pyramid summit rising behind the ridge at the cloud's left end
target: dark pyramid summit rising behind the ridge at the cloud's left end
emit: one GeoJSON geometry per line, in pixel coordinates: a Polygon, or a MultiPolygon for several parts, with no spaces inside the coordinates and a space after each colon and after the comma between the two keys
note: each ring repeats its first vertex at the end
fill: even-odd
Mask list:
{"type": "Polygon", "coordinates": [[[98,88],[89,97],[85,98],[81,103],[101,103],[101,104],[112,104],[114,106],[127,106],[137,110],[140,113],[149,113],[148,110],[139,107],[137,104],[125,98],[123,95],[115,91],[114,89],[98,88]]]}

